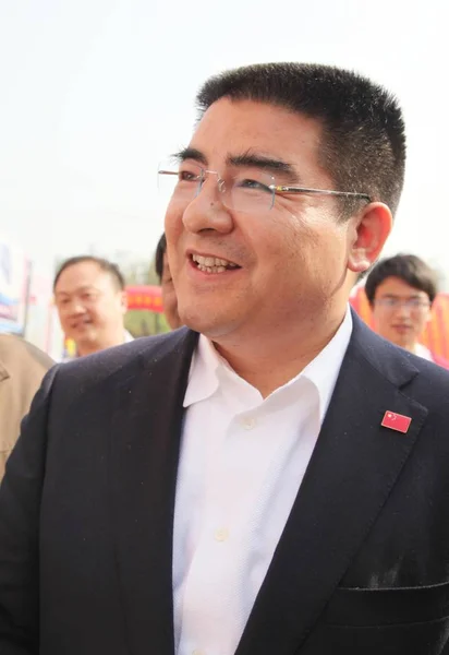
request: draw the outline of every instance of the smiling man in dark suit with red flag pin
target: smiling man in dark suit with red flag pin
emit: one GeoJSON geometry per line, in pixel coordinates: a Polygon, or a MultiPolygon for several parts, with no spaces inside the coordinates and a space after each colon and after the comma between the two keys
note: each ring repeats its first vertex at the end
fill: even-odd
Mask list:
{"type": "Polygon", "coordinates": [[[446,655],[449,374],[348,308],[398,104],[272,63],[197,105],[159,169],[186,327],[47,376],[0,490],[0,651],[446,655]]]}

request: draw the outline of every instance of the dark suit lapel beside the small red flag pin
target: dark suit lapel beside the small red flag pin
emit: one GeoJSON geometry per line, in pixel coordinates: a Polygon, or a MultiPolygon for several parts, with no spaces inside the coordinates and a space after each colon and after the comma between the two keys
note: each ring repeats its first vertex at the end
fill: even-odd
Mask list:
{"type": "Polygon", "coordinates": [[[354,319],[317,445],[236,655],[292,655],[304,643],[424,422],[427,410],[400,391],[416,373],[406,356],[354,319]],[[406,434],[380,426],[386,410],[412,418],[406,434]]]}

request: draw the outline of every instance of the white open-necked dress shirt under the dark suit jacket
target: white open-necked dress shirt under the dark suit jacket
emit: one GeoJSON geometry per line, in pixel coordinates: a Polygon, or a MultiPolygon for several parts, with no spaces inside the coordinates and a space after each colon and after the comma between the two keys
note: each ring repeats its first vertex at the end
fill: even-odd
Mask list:
{"type": "Polygon", "coordinates": [[[191,366],[177,481],[177,655],[233,655],[286,526],[352,332],[265,400],[204,336],[191,366]]]}

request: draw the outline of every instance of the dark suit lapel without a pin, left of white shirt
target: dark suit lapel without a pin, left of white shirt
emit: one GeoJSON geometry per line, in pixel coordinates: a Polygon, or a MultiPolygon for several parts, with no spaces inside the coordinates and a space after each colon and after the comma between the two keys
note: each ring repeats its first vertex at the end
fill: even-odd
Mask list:
{"type": "Polygon", "coordinates": [[[110,492],[117,570],[133,655],[173,648],[172,532],[182,401],[195,333],[151,350],[120,385],[110,492]]]}

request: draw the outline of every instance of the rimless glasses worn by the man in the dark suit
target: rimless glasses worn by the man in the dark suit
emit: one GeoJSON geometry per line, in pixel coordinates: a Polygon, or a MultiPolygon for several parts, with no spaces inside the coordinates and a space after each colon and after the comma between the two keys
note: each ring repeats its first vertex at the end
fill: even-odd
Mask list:
{"type": "Polygon", "coordinates": [[[275,177],[256,167],[239,168],[221,177],[216,170],[207,170],[196,164],[185,163],[177,168],[161,165],[158,170],[159,189],[169,193],[173,201],[189,204],[202,191],[209,176],[216,176],[216,184],[222,204],[239,212],[254,213],[272,209],[276,195],[314,194],[333,195],[371,202],[366,193],[331,191],[279,184],[275,177]]]}

